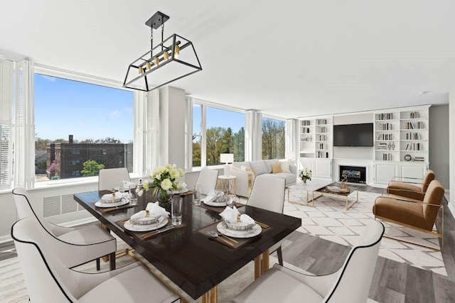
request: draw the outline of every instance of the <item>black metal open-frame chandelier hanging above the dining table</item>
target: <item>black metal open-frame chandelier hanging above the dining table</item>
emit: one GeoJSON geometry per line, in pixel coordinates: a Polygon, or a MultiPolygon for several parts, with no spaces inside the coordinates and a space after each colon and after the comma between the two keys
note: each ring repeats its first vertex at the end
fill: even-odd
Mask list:
{"type": "Polygon", "coordinates": [[[123,87],[149,92],[202,70],[190,40],[176,33],[164,40],[164,23],[168,19],[157,11],[146,21],[146,26],[150,26],[150,50],[129,65],[123,87]],[[154,47],[154,29],[160,26],[161,43],[154,47]]]}

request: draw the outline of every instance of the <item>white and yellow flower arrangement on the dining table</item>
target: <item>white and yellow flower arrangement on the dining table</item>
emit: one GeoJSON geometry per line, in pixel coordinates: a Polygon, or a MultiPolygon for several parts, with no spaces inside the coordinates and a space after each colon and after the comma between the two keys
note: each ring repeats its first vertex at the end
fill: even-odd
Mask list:
{"type": "Polygon", "coordinates": [[[151,180],[139,185],[137,188],[137,195],[141,197],[144,192],[148,191],[151,188],[154,189],[152,194],[155,195],[158,190],[161,189],[156,198],[159,199],[159,201],[165,202],[171,196],[168,191],[171,191],[171,189],[178,190],[181,189],[181,187],[186,187],[186,184],[176,182],[176,179],[183,177],[184,175],[185,172],[181,168],[177,168],[175,164],[166,164],[164,166],[156,167],[150,176],[151,180]]]}

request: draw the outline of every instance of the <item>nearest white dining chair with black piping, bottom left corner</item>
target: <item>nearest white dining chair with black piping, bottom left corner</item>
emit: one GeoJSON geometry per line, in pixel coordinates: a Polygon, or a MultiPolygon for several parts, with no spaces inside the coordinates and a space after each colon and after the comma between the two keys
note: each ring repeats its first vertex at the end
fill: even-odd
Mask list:
{"type": "Polygon", "coordinates": [[[31,302],[180,301],[140,262],[95,274],[67,268],[52,246],[58,240],[32,218],[17,221],[11,236],[31,302]]]}

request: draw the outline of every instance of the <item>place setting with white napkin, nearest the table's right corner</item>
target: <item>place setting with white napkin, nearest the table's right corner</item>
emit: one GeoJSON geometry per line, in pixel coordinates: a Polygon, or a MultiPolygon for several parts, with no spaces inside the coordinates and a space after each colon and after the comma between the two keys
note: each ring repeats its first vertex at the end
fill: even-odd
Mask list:
{"type": "Polygon", "coordinates": [[[230,248],[241,248],[271,229],[269,225],[257,222],[247,214],[240,214],[236,206],[225,206],[220,216],[223,221],[205,226],[198,232],[230,248]]]}

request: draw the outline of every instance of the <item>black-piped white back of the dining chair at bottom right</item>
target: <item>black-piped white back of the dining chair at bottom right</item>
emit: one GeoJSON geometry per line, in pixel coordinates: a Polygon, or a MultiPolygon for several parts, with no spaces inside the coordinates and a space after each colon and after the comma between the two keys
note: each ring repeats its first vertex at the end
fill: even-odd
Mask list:
{"type": "Polygon", "coordinates": [[[323,302],[367,302],[384,230],[380,221],[371,220],[368,223],[358,244],[348,253],[338,271],[338,279],[323,302]]]}

